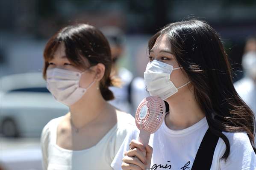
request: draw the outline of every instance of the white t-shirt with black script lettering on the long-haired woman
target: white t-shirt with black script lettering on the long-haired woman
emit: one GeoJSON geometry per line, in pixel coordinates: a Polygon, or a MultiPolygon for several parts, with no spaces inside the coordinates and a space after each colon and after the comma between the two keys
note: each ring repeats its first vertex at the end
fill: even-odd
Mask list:
{"type": "MultiPolygon", "coordinates": [[[[150,136],[149,145],[153,147],[151,170],[191,170],[197,150],[208,129],[206,117],[183,130],[171,130],[165,122],[150,136]]],[[[121,169],[124,152],[129,150],[129,142],[138,139],[139,130],[127,135],[118,150],[111,166],[121,169]]],[[[230,155],[227,162],[221,160],[226,145],[220,138],[215,148],[211,170],[256,170],[256,155],[246,133],[225,133],[230,141],[230,155]]]]}

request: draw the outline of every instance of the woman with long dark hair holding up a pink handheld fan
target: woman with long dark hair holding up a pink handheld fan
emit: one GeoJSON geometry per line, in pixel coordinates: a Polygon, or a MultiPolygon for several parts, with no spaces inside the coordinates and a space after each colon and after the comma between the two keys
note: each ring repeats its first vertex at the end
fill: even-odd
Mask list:
{"type": "Polygon", "coordinates": [[[238,96],[218,33],[206,22],[171,23],[149,40],[144,81],[169,104],[159,130],[143,146],[134,129],[114,169],[254,170],[255,118],[238,96]]]}

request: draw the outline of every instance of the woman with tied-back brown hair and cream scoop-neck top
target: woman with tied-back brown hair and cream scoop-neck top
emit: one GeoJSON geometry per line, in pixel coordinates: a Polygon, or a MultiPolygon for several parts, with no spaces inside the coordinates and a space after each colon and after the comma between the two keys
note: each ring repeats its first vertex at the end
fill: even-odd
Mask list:
{"type": "Polygon", "coordinates": [[[52,119],[41,134],[44,169],[109,170],[134,118],[107,101],[111,52],[106,37],[94,26],[62,28],[44,49],[43,76],[53,97],[70,109],[52,119]]]}

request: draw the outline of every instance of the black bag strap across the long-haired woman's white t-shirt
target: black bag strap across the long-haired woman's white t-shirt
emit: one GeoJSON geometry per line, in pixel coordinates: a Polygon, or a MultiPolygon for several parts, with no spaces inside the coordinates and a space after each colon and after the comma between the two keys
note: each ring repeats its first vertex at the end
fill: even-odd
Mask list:
{"type": "Polygon", "coordinates": [[[218,143],[219,136],[216,136],[208,128],[200,147],[197,151],[191,170],[210,170],[215,147],[218,143]]]}

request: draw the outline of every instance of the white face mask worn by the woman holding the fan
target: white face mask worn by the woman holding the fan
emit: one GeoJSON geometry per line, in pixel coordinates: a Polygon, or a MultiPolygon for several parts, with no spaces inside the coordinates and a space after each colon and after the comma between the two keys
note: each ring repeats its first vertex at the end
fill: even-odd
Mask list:
{"type": "Polygon", "coordinates": [[[181,67],[174,68],[172,65],[157,60],[149,62],[147,64],[146,71],[144,72],[144,82],[150,96],[158,96],[165,100],[168,97],[176,94],[179,88],[182,88],[190,83],[187,82],[185,85],[176,88],[173,82],[171,82],[171,72],[180,68],[181,67]]]}

